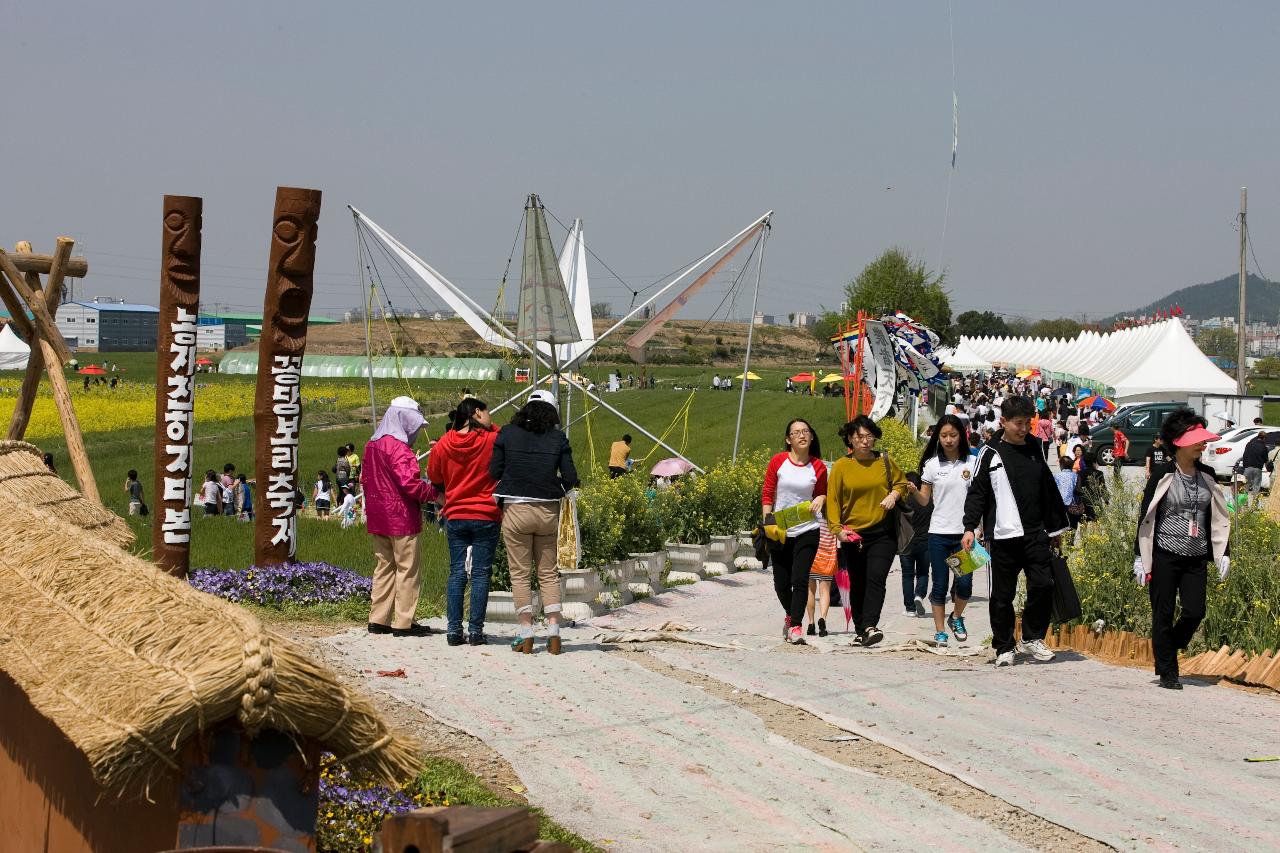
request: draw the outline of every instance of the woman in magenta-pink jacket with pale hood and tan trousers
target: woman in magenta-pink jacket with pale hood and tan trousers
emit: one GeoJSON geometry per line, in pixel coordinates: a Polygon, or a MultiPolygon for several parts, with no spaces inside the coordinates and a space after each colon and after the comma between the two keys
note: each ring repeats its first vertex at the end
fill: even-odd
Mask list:
{"type": "Polygon", "coordinates": [[[365,519],[374,537],[374,594],[369,608],[370,634],[424,637],[426,625],[413,622],[422,581],[417,574],[417,534],[422,532],[422,503],[429,485],[422,479],[413,441],[426,425],[411,397],[396,397],[365,444],[360,484],[365,519]]]}

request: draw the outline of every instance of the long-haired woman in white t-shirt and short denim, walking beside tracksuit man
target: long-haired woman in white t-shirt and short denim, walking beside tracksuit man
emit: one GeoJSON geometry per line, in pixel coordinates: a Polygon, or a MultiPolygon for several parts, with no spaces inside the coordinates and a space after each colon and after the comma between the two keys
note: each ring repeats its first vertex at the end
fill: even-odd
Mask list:
{"type": "Polygon", "coordinates": [[[948,584],[951,569],[947,557],[960,551],[964,538],[964,500],[973,482],[973,459],[969,456],[969,441],[964,425],[954,415],[943,415],[920,457],[919,489],[908,487],[920,506],[933,501],[933,517],[929,521],[929,566],[933,570],[933,588],[929,590],[929,603],[933,606],[933,639],[938,646],[947,644],[947,629],[956,642],[969,639],[964,624],[964,608],[973,597],[973,575],[956,575],[948,584]],[[946,615],[947,587],[951,587],[952,611],[946,615]]]}

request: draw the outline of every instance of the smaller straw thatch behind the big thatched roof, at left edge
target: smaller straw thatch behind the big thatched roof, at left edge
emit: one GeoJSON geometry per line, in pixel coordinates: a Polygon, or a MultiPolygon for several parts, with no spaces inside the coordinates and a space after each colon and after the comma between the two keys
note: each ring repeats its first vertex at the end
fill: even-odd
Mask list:
{"type": "Polygon", "coordinates": [[[0,441],[0,493],[8,500],[49,510],[63,521],[91,530],[122,548],[133,547],[129,525],[45,467],[44,453],[35,444],[0,441]]]}

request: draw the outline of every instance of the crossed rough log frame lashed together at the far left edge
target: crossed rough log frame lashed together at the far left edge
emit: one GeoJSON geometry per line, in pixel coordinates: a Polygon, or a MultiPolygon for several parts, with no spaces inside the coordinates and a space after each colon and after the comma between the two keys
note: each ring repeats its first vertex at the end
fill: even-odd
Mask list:
{"type": "Polygon", "coordinates": [[[36,402],[36,391],[40,388],[40,374],[44,371],[54,391],[58,418],[67,435],[67,455],[70,456],[81,494],[101,503],[93,469],[90,467],[88,453],[84,451],[84,437],[76,418],[76,409],[72,406],[72,392],[63,374],[63,366],[72,360],[72,353],[63,341],[61,332],[58,330],[58,324],[54,323],[54,314],[58,313],[58,304],[63,296],[63,280],[67,277],[82,278],[88,274],[84,259],[72,257],[74,246],[76,241],[70,237],[59,237],[58,248],[52,255],[33,254],[31,243],[26,241],[18,243],[12,255],[0,250],[0,272],[4,273],[0,277],[0,301],[9,311],[18,334],[31,345],[27,374],[23,377],[18,403],[9,421],[8,438],[20,441],[26,435],[31,409],[36,402]],[[41,273],[47,273],[44,286],[40,282],[41,273]],[[4,279],[8,279],[8,284],[4,279]],[[27,318],[28,307],[31,319],[27,318]]]}

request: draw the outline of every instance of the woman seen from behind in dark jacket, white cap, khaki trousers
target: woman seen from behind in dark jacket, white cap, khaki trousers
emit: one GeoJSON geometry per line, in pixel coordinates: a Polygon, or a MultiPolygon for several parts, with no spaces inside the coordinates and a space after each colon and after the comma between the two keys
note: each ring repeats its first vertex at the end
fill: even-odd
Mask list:
{"type": "Polygon", "coordinates": [[[512,649],[525,654],[534,651],[535,570],[547,613],[547,651],[561,652],[561,590],[556,573],[559,502],[579,482],[568,438],[558,426],[554,394],[535,391],[498,433],[489,460],[489,475],[498,480],[493,496],[503,507],[502,540],[507,546],[511,593],[520,620],[512,649]]]}

